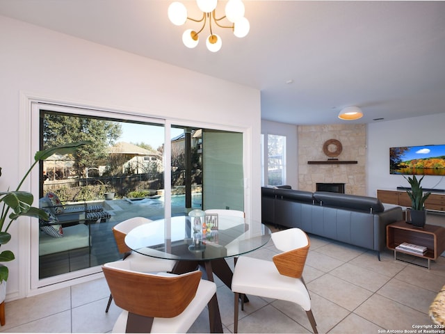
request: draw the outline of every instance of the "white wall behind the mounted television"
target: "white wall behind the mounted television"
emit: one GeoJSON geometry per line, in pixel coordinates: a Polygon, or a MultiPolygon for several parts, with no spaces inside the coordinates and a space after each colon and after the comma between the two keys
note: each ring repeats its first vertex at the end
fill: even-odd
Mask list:
{"type": "MultiPolygon", "coordinates": [[[[445,144],[445,113],[403,120],[375,122],[367,126],[368,195],[377,196],[377,189],[396,190],[409,186],[401,175],[389,174],[389,148],[445,144]]],[[[424,188],[445,189],[445,178],[426,175],[424,188]]]]}

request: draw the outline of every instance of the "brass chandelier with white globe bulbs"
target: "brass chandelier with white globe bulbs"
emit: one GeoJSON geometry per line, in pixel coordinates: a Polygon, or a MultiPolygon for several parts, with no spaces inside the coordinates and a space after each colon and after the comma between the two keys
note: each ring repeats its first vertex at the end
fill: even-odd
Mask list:
{"type": "Polygon", "coordinates": [[[207,49],[212,52],[219,51],[223,45],[220,35],[213,32],[213,29],[218,26],[220,28],[232,29],[236,37],[242,38],[249,33],[250,24],[248,19],[244,17],[244,3],[241,0],[229,0],[225,5],[225,15],[222,17],[216,16],[216,7],[218,0],[196,0],[198,8],[202,11],[200,19],[193,19],[188,17],[187,8],[183,3],[175,1],[168,7],[168,18],[177,26],[182,26],[191,20],[193,22],[201,23],[200,29],[187,29],[182,34],[182,42],[189,48],[196,47],[200,41],[199,35],[204,31],[204,28],[209,26],[210,35],[207,37],[207,49]],[[227,23],[221,23],[221,20],[226,19],[227,23]]]}

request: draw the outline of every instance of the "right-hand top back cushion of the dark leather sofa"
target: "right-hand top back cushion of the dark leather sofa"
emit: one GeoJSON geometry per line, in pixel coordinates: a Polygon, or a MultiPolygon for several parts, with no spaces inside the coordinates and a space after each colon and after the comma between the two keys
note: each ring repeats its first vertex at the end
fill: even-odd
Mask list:
{"type": "Polygon", "coordinates": [[[314,198],[322,205],[330,207],[344,207],[365,212],[384,212],[385,207],[378,198],[369,196],[348,195],[346,193],[331,193],[329,191],[316,191],[314,198]]]}

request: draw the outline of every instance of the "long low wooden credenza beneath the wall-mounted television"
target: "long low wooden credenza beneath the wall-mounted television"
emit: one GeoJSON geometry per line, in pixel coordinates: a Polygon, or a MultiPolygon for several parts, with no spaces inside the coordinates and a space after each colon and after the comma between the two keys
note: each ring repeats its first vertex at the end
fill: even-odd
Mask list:
{"type": "MultiPolygon", "coordinates": [[[[377,198],[382,203],[411,207],[410,196],[403,190],[377,190],[377,198]]],[[[445,194],[431,193],[425,202],[427,210],[445,212],[445,194]]]]}

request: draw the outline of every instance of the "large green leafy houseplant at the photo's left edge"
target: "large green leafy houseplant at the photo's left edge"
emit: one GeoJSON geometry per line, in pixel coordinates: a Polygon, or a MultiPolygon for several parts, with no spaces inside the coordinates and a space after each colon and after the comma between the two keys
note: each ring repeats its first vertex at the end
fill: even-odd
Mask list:
{"type": "MultiPolygon", "coordinates": [[[[29,170],[25,173],[24,177],[22,177],[22,180],[17,186],[17,189],[15,189],[15,191],[9,191],[9,189],[8,191],[0,191],[0,203],[3,204],[0,216],[0,246],[7,244],[10,241],[11,235],[8,233],[8,230],[13,221],[19,218],[19,216],[31,216],[31,217],[41,218],[45,221],[48,220],[48,215],[46,212],[44,212],[42,209],[39,209],[38,207],[32,206],[34,200],[33,194],[29,193],[28,191],[19,190],[23,182],[26,180],[26,177],[28,177],[29,173],[31,173],[31,170],[34,168],[34,166],[38,164],[40,160],[44,160],[47,159],[48,157],[51,157],[52,154],[72,153],[77,148],[79,148],[79,146],[86,145],[88,143],[90,143],[90,141],[79,141],[76,143],[68,143],[65,145],[60,145],[54,148],[49,148],[47,150],[36,152],[33,164],[31,165],[29,170]],[[12,212],[9,214],[10,210],[12,212]]],[[[0,176],[1,176],[1,168],[0,168],[0,176]]],[[[14,259],[15,255],[10,250],[3,250],[0,253],[0,262],[9,262],[14,259]]],[[[8,267],[6,267],[3,264],[0,264],[0,283],[3,282],[3,280],[5,281],[8,280],[8,275],[9,275],[8,267]]]]}

